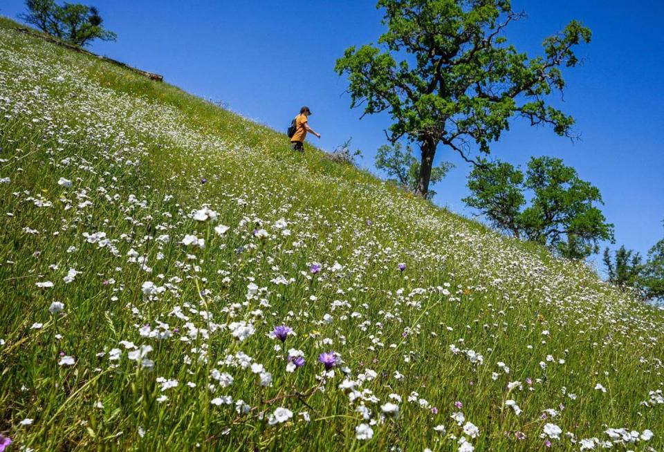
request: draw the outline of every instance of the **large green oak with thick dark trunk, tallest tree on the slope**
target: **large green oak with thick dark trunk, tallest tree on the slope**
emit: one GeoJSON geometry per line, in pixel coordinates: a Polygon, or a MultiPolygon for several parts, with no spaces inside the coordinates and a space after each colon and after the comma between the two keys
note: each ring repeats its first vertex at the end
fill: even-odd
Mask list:
{"type": "Polygon", "coordinates": [[[578,21],[544,39],[544,55],[531,58],[502,36],[524,17],[509,0],[379,0],[378,7],[387,26],[382,48],[347,48],[335,70],[349,78],[351,108],[363,105],[362,116],[388,111],[390,142],[405,135],[419,144],[421,196],[439,144],[476,163],[470,145],[488,154],[513,116],[571,135],[573,118],[544,98],[562,91],[560,68],[576,66],[572,48],[590,41],[578,21]]]}

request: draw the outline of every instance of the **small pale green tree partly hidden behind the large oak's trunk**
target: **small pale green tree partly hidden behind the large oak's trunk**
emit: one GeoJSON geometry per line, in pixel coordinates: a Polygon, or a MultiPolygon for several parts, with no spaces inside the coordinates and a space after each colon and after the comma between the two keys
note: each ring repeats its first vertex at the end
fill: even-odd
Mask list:
{"type": "MultiPolygon", "coordinates": [[[[400,142],[391,146],[383,144],[376,153],[376,168],[385,171],[391,182],[396,182],[400,187],[416,192],[420,162],[413,156],[412,148],[409,145],[403,149],[400,142]]],[[[432,167],[430,183],[436,184],[443,180],[452,168],[454,168],[454,164],[451,162],[441,162],[439,166],[432,167]]],[[[425,198],[432,199],[435,195],[435,191],[429,190],[425,198]]]]}

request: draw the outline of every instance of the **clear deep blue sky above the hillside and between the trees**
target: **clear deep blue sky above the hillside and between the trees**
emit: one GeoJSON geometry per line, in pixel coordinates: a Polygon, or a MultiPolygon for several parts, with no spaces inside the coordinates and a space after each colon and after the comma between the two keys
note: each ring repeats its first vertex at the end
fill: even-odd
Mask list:
{"type": "MultiPolygon", "coordinates": [[[[74,0],[72,0],[74,1],[74,0]]],[[[87,3],[82,0],[82,3],[87,3]]],[[[246,117],[284,130],[300,106],[311,107],[313,139],[331,150],[347,138],[371,169],[385,143],[387,114],[349,109],[335,59],[351,45],[376,41],[382,30],[374,0],[147,1],[97,0],[104,25],[118,41],[91,50],[163,74],[171,84],[228,102],[246,117]]],[[[515,120],[494,154],[516,164],[557,156],[598,186],[617,245],[645,253],[664,236],[664,2],[643,0],[514,0],[528,19],[508,28],[517,48],[535,55],[542,39],[579,19],[593,41],[578,50],[584,64],[564,73],[564,101],[553,102],[578,122],[581,141],[515,120]]],[[[21,0],[4,0],[0,14],[16,17],[21,0]]],[[[470,168],[446,149],[436,160],[457,168],[434,187],[436,203],[470,216],[461,202],[470,168]]]]}

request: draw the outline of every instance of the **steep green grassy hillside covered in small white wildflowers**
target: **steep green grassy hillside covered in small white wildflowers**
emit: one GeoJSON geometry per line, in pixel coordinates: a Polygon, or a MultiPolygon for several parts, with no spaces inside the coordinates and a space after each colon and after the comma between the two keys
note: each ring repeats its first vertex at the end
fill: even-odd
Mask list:
{"type": "Polygon", "coordinates": [[[662,310],[15,26],[9,450],[664,449],[662,310]]]}

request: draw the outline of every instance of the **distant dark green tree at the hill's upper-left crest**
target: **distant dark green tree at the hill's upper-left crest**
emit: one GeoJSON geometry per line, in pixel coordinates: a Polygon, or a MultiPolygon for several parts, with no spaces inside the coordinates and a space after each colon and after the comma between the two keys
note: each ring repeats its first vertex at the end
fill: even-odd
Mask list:
{"type": "Polygon", "coordinates": [[[94,6],[64,3],[55,0],[26,0],[28,12],[19,19],[43,32],[77,46],[87,46],[94,39],[115,41],[117,35],[102,27],[102,17],[94,6]]]}

